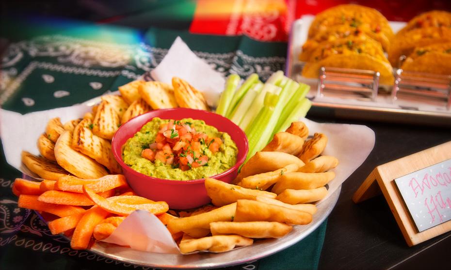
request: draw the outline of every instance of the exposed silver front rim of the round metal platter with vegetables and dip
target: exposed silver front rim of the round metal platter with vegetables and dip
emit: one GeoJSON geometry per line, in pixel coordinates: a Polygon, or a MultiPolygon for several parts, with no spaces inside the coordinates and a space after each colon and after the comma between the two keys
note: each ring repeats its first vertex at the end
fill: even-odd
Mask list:
{"type": "Polygon", "coordinates": [[[96,242],[89,250],[97,255],[130,264],[161,269],[208,269],[243,264],[273,255],[306,238],[329,216],[337,204],[341,186],[318,205],[313,221],[295,225],[283,238],[255,241],[253,245],[225,253],[197,253],[191,255],[160,254],[134,250],[106,242],[96,242]]]}

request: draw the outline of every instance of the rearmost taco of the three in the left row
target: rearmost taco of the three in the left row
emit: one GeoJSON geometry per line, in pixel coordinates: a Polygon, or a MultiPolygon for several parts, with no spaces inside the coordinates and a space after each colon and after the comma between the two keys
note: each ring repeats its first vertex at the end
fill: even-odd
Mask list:
{"type": "Polygon", "coordinates": [[[365,26],[365,29],[385,36],[384,39],[388,41],[394,36],[387,19],[377,10],[360,5],[345,4],[316,15],[308,30],[308,38],[313,38],[318,32],[328,31],[331,27],[338,25],[347,25],[352,28],[365,26]]]}

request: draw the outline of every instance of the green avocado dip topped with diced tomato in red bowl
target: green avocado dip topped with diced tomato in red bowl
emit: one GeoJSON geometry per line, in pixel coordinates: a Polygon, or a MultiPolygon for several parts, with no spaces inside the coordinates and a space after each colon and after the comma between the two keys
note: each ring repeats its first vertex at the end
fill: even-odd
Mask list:
{"type": "Polygon", "coordinates": [[[220,174],[237,161],[230,135],[203,120],[153,118],[123,146],[132,169],[161,179],[194,180],[220,174]]]}

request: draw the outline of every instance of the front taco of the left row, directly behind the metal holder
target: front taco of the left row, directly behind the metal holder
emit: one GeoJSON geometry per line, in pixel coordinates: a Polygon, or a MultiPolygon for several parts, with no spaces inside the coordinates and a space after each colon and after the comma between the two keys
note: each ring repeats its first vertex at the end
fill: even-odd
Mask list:
{"type": "Polygon", "coordinates": [[[379,43],[370,38],[348,37],[316,48],[302,70],[302,75],[317,78],[321,67],[373,70],[380,73],[380,83],[393,84],[393,69],[379,43]]]}

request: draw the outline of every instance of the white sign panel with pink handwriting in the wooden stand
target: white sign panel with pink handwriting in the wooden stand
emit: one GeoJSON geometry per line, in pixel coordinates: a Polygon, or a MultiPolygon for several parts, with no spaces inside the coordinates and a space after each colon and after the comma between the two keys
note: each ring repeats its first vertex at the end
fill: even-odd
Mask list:
{"type": "Polygon", "coordinates": [[[395,179],[419,232],[451,220],[451,159],[395,179]]]}

